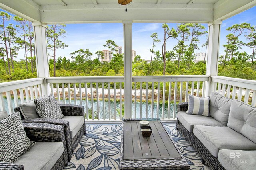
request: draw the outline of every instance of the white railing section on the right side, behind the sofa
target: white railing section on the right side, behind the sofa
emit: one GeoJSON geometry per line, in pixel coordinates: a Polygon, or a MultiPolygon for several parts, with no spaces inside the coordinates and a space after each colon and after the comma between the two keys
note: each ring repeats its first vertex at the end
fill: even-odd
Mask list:
{"type": "Polygon", "coordinates": [[[223,76],[211,76],[211,78],[216,92],[256,106],[256,81],[223,76]]]}

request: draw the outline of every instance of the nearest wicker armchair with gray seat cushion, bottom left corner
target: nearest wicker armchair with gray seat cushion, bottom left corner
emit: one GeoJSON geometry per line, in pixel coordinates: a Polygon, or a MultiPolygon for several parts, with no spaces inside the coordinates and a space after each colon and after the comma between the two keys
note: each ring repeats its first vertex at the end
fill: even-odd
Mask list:
{"type": "Polygon", "coordinates": [[[0,162],[0,170],[62,170],[68,164],[63,126],[23,123],[23,127],[28,138],[36,145],[14,164],[0,162]]]}

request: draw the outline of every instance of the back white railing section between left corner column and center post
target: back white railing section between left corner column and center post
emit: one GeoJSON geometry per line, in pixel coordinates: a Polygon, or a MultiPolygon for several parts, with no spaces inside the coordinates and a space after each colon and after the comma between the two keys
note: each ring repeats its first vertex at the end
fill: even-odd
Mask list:
{"type": "Polygon", "coordinates": [[[51,93],[57,97],[58,103],[84,105],[87,120],[122,120],[123,76],[49,77],[46,80],[47,83],[50,83],[51,93]],[[59,86],[61,86],[61,89],[59,86]],[[119,90],[116,89],[116,86],[118,86],[119,90]],[[54,87],[56,87],[56,91],[54,91],[54,87]],[[113,91],[113,107],[111,107],[112,97],[110,91],[113,91]],[[96,102],[94,102],[95,98],[96,102]],[[117,101],[117,98],[119,101],[117,101]],[[119,104],[119,113],[121,113],[119,115],[117,115],[117,102],[119,104]]]}

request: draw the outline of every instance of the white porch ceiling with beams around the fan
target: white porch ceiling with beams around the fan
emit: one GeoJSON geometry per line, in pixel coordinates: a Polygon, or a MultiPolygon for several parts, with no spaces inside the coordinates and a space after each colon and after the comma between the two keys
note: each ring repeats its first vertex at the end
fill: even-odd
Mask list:
{"type": "Polygon", "coordinates": [[[0,8],[34,23],[213,23],[256,5],[256,0],[0,0],[0,8]]]}

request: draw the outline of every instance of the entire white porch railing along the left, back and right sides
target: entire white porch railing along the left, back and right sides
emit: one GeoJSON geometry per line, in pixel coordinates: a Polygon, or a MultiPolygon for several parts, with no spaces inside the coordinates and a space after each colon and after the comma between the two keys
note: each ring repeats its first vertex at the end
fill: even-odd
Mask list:
{"type": "MultiPolygon", "coordinates": [[[[49,77],[51,93],[60,104],[85,107],[87,120],[120,121],[125,117],[124,102],[132,102],[133,118],[176,119],[176,104],[188,94],[204,96],[209,76],[133,76],[132,101],[124,101],[124,77],[49,77]],[[153,86],[152,86],[153,84],[153,86]],[[154,93],[152,93],[154,92],[154,93]]],[[[232,99],[256,105],[256,81],[212,76],[214,90],[232,99]]],[[[0,110],[42,96],[44,78],[0,83],[0,110]],[[21,93],[22,92],[22,93],[21,93]]]]}

